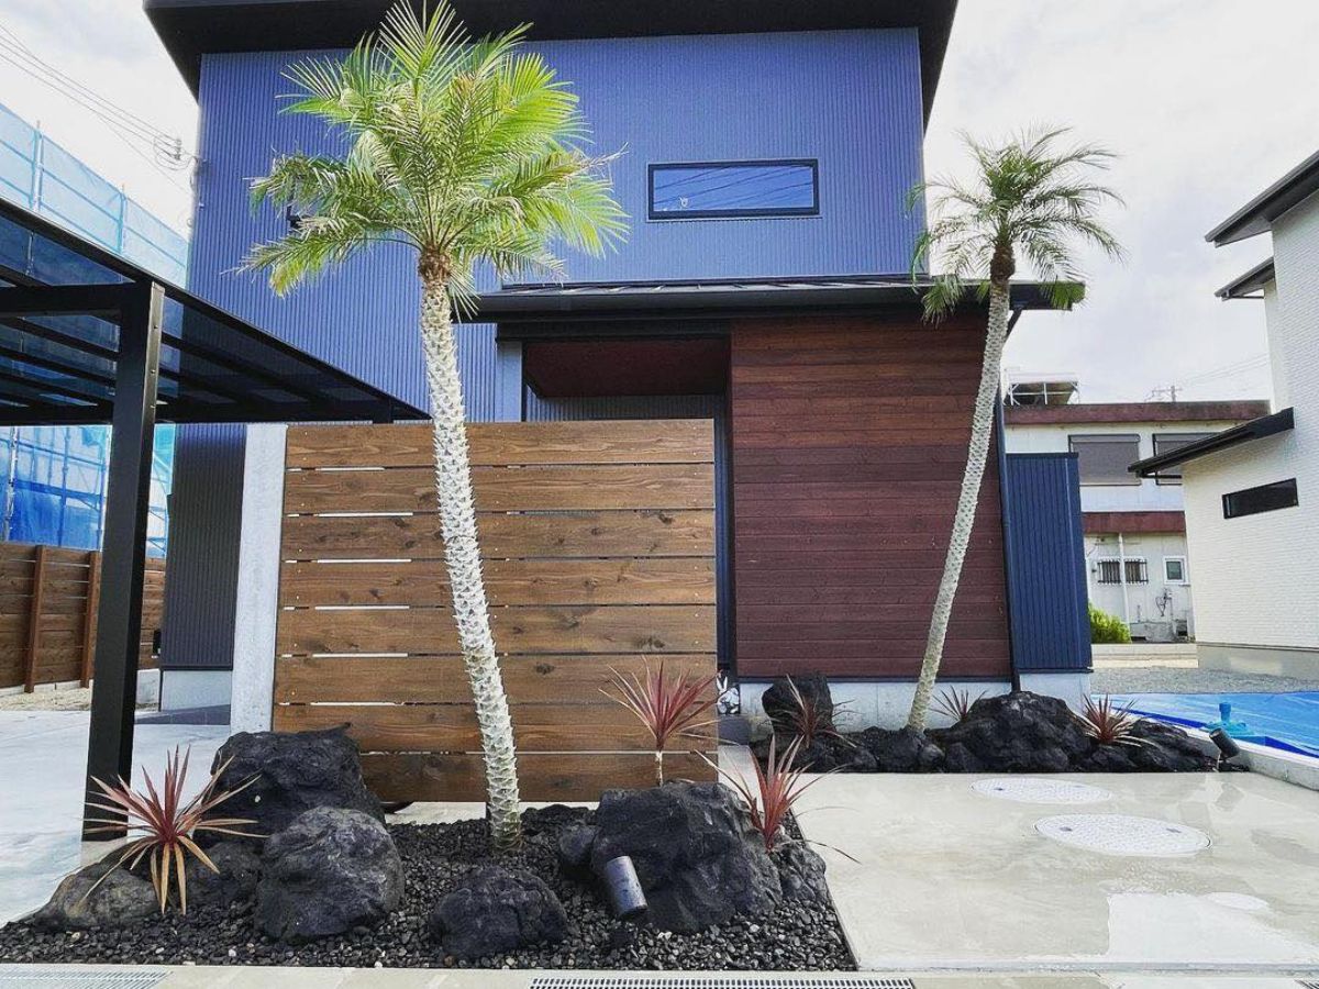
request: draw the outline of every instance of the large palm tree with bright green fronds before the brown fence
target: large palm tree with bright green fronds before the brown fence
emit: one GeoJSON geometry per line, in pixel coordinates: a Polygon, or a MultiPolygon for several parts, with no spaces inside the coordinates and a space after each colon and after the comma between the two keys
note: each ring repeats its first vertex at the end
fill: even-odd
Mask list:
{"type": "Polygon", "coordinates": [[[600,253],[627,229],[608,158],[580,150],[576,98],[522,47],[525,34],[474,42],[447,4],[418,17],[400,0],[347,57],[290,69],[301,92],[288,112],[324,121],[346,153],[278,157],[253,182],[253,204],[291,208],[298,222],[245,261],[284,294],[379,244],[415,251],[445,562],[499,849],[521,840],[517,766],[481,579],[454,311],[472,303],[479,264],[500,277],[557,277],[554,243],[600,253]]]}

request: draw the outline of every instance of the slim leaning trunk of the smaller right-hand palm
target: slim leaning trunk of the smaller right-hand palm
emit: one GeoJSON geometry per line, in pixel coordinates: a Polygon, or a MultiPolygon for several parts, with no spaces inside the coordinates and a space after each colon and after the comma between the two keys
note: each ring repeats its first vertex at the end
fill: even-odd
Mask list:
{"type": "Polygon", "coordinates": [[[962,579],[962,563],[967,558],[971,529],[976,521],[980,481],[989,460],[989,439],[993,435],[995,405],[998,402],[1002,375],[1002,348],[1008,339],[1008,285],[1006,280],[996,280],[989,285],[989,327],[985,336],[984,364],[980,369],[980,388],[976,392],[976,406],[971,418],[967,469],[962,475],[962,493],[958,496],[958,510],[952,517],[948,555],[943,562],[943,578],[939,580],[939,593],[934,600],[934,614],[930,618],[930,637],[925,645],[925,658],[921,661],[921,678],[917,680],[911,713],[907,716],[907,727],[918,731],[925,731],[930,713],[934,682],[939,675],[939,662],[943,659],[943,640],[948,634],[948,618],[952,614],[958,582],[962,579]]]}

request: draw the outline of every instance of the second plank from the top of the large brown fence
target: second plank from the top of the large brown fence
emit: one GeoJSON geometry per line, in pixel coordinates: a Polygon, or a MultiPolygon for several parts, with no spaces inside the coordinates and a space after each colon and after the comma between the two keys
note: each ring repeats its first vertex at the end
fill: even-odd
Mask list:
{"type": "MultiPolygon", "coordinates": [[[[714,464],[477,467],[477,512],[586,512],[714,508],[714,464]]],[[[284,510],[434,512],[430,467],[385,471],[290,471],[284,510]]]]}

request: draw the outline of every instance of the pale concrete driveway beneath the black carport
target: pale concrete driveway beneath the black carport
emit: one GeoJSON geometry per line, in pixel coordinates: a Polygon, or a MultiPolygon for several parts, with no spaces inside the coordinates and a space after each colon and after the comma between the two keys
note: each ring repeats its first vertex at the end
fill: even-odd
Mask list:
{"type": "MultiPolygon", "coordinates": [[[[79,836],[87,728],[83,711],[0,712],[0,923],[36,910],[65,873],[108,848],[79,836]]],[[[160,783],[166,753],[191,745],[194,793],[227,736],[224,725],[138,724],[133,785],[144,765],[160,783]]]]}

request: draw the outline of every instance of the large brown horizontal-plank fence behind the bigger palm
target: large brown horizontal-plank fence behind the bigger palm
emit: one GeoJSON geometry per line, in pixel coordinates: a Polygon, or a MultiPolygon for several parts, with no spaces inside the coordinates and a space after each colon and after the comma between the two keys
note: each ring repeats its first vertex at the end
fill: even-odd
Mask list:
{"type": "MultiPolygon", "coordinates": [[[[649,734],[600,688],[660,659],[715,671],[712,423],[474,423],[468,439],[522,798],[649,785],[649,734]]],[[[429,425],[289,429],[273,723],[348,724],[383,799],[479,800],[431,456],[429,425]]],[[[689,752],[665,773],[714,775],[689,752]]]]}

